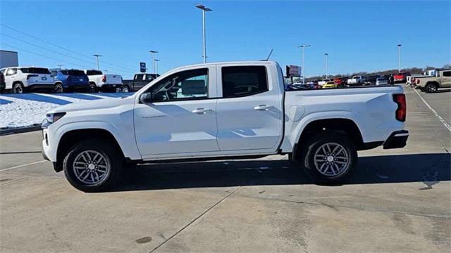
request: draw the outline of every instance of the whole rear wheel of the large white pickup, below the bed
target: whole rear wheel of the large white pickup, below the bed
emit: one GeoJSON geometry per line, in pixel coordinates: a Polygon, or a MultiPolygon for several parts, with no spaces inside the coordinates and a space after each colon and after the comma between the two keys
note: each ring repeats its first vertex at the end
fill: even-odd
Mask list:
{"type": "Polygon", "coordinates": [[[301,159],[301,164],[304,165],[307,174],[316,183],[341,182],[357,167],[357,148],[343,134],[334,132],[316,134],[311,136],[303,147],[298,157],[301,159]],[[329,145],[330,150],[327,150],[326,144],[329,145]],[[340,146],[344,151],[340,150],[340,146]],[[325,147],[324,150],[323,147],[325,147]],[[336,147],[339,148],[338,153],[332,153],[336,147]],[[323,151],[330,151],[330,153],[321,157],[321,159],[324,158],[324,161],[317,162],[323,151]],[[315,160],[316,155],[318,156],[315,160]],[[347,160],[341,157],[347,157],[347,160]]]}

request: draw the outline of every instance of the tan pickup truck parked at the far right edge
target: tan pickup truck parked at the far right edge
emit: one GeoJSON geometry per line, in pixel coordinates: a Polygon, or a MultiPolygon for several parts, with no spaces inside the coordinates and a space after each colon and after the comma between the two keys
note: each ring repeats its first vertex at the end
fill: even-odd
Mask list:
{"type": "Polygon", "coordinates": [[[451,69],[437,70],[433,77],[415,77],[413,86],[427,93],[435,93],[439,88],[450,88],[451,69]]]}

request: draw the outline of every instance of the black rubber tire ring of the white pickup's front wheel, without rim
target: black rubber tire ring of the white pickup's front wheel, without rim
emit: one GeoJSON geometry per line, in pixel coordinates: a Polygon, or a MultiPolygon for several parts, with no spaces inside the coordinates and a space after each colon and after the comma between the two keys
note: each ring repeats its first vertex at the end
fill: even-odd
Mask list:
{"type": "Polygon", "coordinates": [[[104,191],[113,186],[113,184],[116,183],[116,180],[118,179],[122,160],[119,158],[120,156],[118,155],[117,150],[112,147],[113,145],[109,145],[108,143],[101,143],[101,140],[99,140],[82,141],[77,145],[74,145],[73,148],[70,148],[63,161],[64,174],[66,175],[66,179],[69,181],[69,183],[78,190],[82,190],[84,192],[104,191]],[[75,160],[75,157],[82,153],[82,151],[86,150],[94,150],[101,153],[101,155],[104,155],[109,164],[111,164],[109,175],[106,179],[104,179],[104,181],[101,181],[101,183],[89,186],[85,183],[82,183],[75,176],[75,172],[73,171],[73,162],[75,160]]]}

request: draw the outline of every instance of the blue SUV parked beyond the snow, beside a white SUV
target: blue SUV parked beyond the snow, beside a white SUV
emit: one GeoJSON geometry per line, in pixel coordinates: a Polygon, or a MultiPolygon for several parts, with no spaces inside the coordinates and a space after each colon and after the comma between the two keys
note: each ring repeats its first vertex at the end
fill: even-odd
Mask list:
{"type": "Polygon", "coordinates": [[[51,69],[51,76],[55,79],[55,92],[88,91],[89,79],[82,70],[51,69]]]}

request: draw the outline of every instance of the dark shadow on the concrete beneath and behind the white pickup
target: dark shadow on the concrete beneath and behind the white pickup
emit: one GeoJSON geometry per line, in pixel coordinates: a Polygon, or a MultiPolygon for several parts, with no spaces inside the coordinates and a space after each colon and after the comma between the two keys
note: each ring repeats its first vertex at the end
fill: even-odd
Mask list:
{"type": "MultiPolygon", "coordinates": [[[[433,189],[451,180],[450,154],[359,157],[359,165],[342,184],[423,182],[433,189]]],[[[234,160],[146,164],[127,171],[111,191],[313,184],[288,160],[234,160]]]]}

